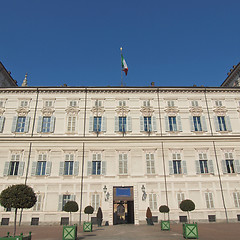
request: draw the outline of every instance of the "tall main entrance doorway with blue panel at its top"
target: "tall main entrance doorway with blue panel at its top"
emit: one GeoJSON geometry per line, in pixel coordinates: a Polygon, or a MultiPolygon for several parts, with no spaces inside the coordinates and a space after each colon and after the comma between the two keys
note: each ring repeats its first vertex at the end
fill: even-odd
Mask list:
{"type": "Polygon", "coordinates": [[[113,187],[113,224],[134,224],[133,187],[113,187]]]}

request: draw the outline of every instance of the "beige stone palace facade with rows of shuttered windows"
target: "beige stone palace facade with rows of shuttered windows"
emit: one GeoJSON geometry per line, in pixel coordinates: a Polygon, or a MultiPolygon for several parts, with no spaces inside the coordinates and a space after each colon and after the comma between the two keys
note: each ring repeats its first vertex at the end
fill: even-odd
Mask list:
{"type": "MultiPolygon", "coordinates": [[[[87,220],[87,205],[94,217],[100,206],[110,224],[143,223],[147,207],[160,220],[160,205],[179,221],[186,216],[179,209],[183,199],[195,202],[193,220],[237,221],[239,93],[221,87],[2,88],[0,191],[25,182],[33,187],[38,202],[23,211],[26,224],[32,218],[59,224],[68,217],[62,211],[68,200],[81,208],[75,222],[87,220]],[[116,189],[131,194],[120,220],[116,189]]],[[[13,222],[14,214],[0,208],[3,218],[13,222]]]]}

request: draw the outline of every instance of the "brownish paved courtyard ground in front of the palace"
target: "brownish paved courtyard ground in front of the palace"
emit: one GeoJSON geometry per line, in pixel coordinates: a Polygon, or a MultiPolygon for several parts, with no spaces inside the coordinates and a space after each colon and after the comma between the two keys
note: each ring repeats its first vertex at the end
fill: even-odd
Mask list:
{"type": "MultiPolygon", "coordinates": [[[[240,223],[206,223],[199,224],[200,240],[237,240],[240,239],[240,223]]],[[[1,226],[0,236],[13,232],[13,226],[1,226]]],[[[61,240],[62,226],[21,226],[17,233],[26,235],[32,232],[32,240],[61,240]]],[[[182,224],[172,224],[170,231],[161,231],[160,224],[116,225],[93,227],[93,232],[83,232],[78,228],[78,240],[182,240],[182,224]]]]}

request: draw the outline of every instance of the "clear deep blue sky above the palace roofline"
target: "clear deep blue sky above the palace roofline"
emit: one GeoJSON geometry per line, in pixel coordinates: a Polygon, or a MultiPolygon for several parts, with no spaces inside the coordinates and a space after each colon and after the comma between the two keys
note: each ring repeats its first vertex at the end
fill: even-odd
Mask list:
{"type": "Polygon", "coordinates": [[[0,61],[21,85],[219,86],[240,61],[240,1],[1,1],[0,61]]]}

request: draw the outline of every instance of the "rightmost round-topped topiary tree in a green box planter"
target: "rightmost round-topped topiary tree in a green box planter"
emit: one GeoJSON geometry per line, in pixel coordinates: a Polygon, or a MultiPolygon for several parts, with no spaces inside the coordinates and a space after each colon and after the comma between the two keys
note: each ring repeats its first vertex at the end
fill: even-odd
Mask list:
{"type": "Polygon", "coordinates": [[[198,239],[198,227],[197,223],[190,223],[189,212],[195,209],[195,204],[192,200],[186,199],[180,203],[180,209],[188,214],[188,223],[183,224],[183,237],[198,239]]]}

